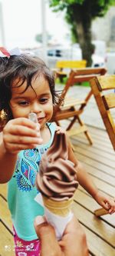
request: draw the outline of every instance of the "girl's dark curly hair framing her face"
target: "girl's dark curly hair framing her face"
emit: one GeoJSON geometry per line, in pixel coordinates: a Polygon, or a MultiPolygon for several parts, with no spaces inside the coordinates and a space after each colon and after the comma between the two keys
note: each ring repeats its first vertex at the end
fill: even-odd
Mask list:
{"type": "Polygon", "coordinates": [[[11,100],[11,86],[13,81],[18,78],[18,82],[21,81],[18,86],[21,86],[27,81],[26,91],[31,86],[32,79],[38,75],[43,75],[48,81],[53,104],[57,104],[58,95],[54,88],[54,75],[41,58],[25,54],[19,56],[14,55],[10,58],[0,58],[0,111],[5,113],[6,121],[12,118],[9,102],[11,100]]]}

